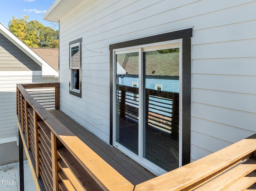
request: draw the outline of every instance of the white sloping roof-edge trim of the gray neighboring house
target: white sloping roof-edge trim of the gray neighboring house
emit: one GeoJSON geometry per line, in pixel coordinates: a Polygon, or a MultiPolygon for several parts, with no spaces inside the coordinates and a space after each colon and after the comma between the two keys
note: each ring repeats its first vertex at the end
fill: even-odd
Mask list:
{"type": "Polygon", "coordinates": [[[20,39],[18,39],[2,24],[0,24],[0,33],[4,35],[4,37],[10,40],[14,45],[16,45],[20,50],[22,50],[26,55],[28,55],[32,60],[34,60],[38,65],[42,67],[42,77],[52,77],[52,76],[58,77],[59,76],[58,71],[56,71],[46,61],[44,61],[34,51],[32,51],[32,49],[30,49],[27,45],[25,45],[20,39]]]}

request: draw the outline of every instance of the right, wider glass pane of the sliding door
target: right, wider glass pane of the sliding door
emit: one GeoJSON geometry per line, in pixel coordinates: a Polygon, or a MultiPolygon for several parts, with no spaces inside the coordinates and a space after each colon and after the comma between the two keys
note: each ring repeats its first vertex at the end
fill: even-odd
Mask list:
{"type": "Polygon", "coordinates": [[[179,166],[179,49],[144,57],[143,157],[166,171],[179,166]]]}

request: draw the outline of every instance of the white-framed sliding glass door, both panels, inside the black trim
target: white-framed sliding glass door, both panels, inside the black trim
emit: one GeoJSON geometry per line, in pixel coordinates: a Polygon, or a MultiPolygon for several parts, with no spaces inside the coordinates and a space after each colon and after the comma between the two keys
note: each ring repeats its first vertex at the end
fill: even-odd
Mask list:
{"type": "Polygon", "coordinates": [[[114,145],[162,174],[180,161],[180,42],[114,51],[114,145]]]}

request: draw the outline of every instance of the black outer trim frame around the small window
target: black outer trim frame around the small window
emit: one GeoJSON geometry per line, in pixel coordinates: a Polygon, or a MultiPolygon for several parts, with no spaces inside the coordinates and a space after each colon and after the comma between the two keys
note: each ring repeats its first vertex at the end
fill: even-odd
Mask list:
{"type": "Polygon", "coordinates": [[[70,78],[69,78],[69,93],[71,95],[74,95],[74,96],[77,96],[77,97],[80,97],[82,98],[82,38],[79,38],[79,39],[76,39],[76,40],[73,40],[71,42],[69,42],[69,75],[70,75],[70,78]],[[80,55],[80,64],[79,64],[79,93],[78,92],[75,92],[75,91],[72,91],[71,90],[71,63],[70,63],[70,48],[71,48],[71,45],[73,44],[76,44],[76,43],[79,43],[79,55],[80,55]]]}

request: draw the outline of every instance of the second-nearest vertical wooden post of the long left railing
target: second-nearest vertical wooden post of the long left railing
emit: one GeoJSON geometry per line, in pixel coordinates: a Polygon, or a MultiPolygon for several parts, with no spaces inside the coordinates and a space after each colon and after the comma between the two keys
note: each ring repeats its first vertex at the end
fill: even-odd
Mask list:
{"type": "Polygon", "coordinates": [[[33,110],[33,124],[34,124],[34,140],[35,140],[35,161],[36,161],[36,176],[40,177],[39,171],[39,151],[38,151],[38,124],[37,113],[33,110]]]}

